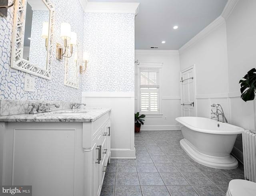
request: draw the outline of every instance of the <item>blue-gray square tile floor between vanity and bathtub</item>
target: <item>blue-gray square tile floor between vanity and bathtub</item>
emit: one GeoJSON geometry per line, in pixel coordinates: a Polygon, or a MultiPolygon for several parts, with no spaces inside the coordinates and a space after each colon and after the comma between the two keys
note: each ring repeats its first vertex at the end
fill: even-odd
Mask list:
{"type": "Polygon", "coordinates": [[[135,133],[136,159],[111,159],[101,196],[224,196],[243,165],[221,170],[198,164],[180,147],[181,131],[135,133]]]}

